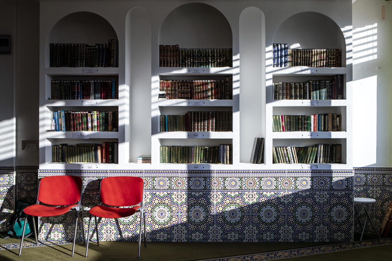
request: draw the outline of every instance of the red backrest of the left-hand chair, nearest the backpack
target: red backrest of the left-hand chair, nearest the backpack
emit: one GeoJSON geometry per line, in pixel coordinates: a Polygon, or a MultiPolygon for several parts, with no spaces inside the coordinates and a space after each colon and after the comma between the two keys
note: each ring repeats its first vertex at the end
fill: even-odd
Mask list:
{"type": "Polygon", "coordinates": [[[50,176],[41,178],[38,200],[49,205],[72,205],[80,201],[82,178],[50,176]]]}

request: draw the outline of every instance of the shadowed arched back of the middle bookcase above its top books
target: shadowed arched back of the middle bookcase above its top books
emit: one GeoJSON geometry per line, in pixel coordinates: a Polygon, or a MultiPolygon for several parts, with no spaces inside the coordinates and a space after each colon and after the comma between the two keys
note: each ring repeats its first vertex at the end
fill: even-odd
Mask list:
{"type": "Polygon", "coordinates": [[[203,3],[184,4],[163,20],[158,34],[160,45],[180,48],[232,48],[232,31],[226,17],[215,7],[203,3]]]}

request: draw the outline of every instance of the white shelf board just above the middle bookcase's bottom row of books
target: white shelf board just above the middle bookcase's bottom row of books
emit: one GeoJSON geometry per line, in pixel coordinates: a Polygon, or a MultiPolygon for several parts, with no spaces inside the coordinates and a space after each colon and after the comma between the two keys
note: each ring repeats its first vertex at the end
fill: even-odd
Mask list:
{"type": "Polygon", "coordinates": [[[233,139],[232,131],[163,131],[153,136],[158,139],[233,139]]]}

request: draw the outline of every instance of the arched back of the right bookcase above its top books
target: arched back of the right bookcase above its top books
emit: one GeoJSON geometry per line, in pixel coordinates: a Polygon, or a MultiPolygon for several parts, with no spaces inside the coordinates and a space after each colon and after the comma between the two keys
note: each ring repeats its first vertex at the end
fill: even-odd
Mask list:
{"type": "Polygon", "coordinates": [[[328,16],[302,12],[287,18],[278,28],[274,43],[288,43],[289,48],[339,49],[341,66],[346,67],[346,41],[339,26],[328,16]]]}

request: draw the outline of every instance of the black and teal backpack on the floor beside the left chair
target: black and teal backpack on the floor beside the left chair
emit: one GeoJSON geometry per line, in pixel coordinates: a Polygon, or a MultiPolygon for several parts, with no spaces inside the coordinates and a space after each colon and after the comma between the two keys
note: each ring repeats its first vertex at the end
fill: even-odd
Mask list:
{"type": "MultiPolygon", "coordinates": [[[[26,214],[23,212],[24,208],[31,205],[31,203],[25,200],[18,200],[16,202],[16,211],[14,214],[9,218],[8,225],[11,226],[10,230],[8,231],[7,235],[3,238],[18,238],[22,237],[23,226],[26,221],[26,214]]],[[[27,217],[27,224],[25,228],[25,235],[24,237],[27,238],[31,234],[33,234],[33,219],[31,216],[27,217]]]]}

